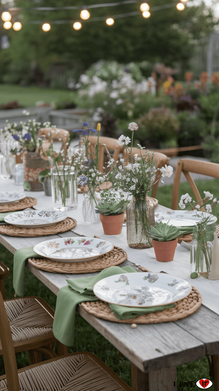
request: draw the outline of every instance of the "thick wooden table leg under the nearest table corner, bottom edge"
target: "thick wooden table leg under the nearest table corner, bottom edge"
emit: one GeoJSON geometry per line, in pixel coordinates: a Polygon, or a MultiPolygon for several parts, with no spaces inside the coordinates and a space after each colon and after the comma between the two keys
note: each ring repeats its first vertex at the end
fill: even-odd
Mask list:
{"type": "Polygon", "coordinates": [[[176,366],[149,373],[143,373],[134,364],[131,368],[133,391],[177,391],[176,366]]]}

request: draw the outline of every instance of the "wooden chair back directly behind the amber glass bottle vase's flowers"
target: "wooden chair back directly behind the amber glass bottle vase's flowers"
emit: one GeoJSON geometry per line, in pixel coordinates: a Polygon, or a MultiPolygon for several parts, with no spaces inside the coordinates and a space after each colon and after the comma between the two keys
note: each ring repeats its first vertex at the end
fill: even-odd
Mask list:
{"type": "MultiPolygon", "coordinates": [[[[145,153],[144,151],[145,151],[145,149],[141,149],[141,152],[140,152],[140,149],[132,148],[132,155],[134,156],[135,154],[137,154],[138,158],[141,158],[141,153],[142,153],[142,156],[143,156],[144,153],[145,153]]],[[[153,151],[148,151],[148,152],[149,152],[150,159],[151,159],[151,157],[153,155],[153,158],[155,160],[155,167],[156,168],[160,169],[165,164],[166,165],[169,164],[169,158],[166,155],[164,155],[163,153],[153,152],[153,151]]],[[[126,156],[126,149],[123,150],[123,158],[125,159],[125,161],[130,161],[130,155],[126,156]]],[[[160,175],[160,171],[158,170],[156,172],[154,183],[157,181],[159,175],[160,175]]],[[[153,197],[156,197],[158,183],[159,183],[159,181],[153,186],[153,195],[152,195],[153,197]]]]}

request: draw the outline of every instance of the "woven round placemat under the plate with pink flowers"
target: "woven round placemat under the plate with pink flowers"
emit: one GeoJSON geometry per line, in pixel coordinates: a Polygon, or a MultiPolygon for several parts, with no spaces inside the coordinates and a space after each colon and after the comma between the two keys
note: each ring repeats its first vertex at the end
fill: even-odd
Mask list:
{"type": "Polygon", "coordinates": [[[109,253],[101,255],[100,258],[93,259],[89,262],[55,262],[48,258],[29,258],[28,262],[37,269],[50,271],[52,273],[76,274],[101,271],[107,269],[107,267],[119,265],[126,259],[126,252],[115,246],[109,253]]]}

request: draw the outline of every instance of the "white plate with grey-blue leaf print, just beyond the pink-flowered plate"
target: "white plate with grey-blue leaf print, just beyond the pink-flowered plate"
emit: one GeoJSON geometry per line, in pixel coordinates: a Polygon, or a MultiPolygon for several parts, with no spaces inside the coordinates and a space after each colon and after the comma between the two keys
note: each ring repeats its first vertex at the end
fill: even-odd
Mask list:
{"type": "Polygon", "coordinates": [[[66,217],[65,212],[56,210],[26,210],[11,213],[5,216],[4,221],[21,228],[41,228],[62,221],[66,217]]]}

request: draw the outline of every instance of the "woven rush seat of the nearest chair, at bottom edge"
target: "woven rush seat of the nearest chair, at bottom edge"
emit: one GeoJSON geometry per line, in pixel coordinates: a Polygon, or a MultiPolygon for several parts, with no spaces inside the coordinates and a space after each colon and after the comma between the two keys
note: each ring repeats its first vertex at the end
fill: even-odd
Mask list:
{"type": "MultiPolygon", "coordinates": [[[[124,390],[96,362],[85,354],[69,355],[35,368],[18,372],[22,391],[122,391],[124,390]]],[[[7,391],[7,380],[0,380],[7,391]]]]}

